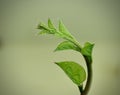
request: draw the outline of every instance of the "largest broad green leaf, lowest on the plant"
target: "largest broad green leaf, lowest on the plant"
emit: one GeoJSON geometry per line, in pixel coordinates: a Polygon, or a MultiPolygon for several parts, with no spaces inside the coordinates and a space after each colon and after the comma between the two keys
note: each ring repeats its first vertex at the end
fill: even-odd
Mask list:
{"type": "Polygon", "coordinates": [[[84,68],[73,61],[56,62],[62,68],[67,76],[78,86],[80,86],[86,79],[84,68]]]}

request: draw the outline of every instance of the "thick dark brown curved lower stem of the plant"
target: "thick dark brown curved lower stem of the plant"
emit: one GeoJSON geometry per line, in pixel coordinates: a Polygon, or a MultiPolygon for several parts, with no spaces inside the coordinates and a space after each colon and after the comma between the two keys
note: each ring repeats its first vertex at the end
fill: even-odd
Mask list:
{"type": "Polygon", "coordinates": [[[89,62],[88,57],[84,56],[84,59],[86,61],[88,77],[87,77],[87,82],[86,82],[86,86],[85,86],[84,90],[82,92],[80,91],[81,95],[88,94],[88,91],[89,91],[90,86],[91,86],[91,81],[92,81],[92,64],[89,62]]]}

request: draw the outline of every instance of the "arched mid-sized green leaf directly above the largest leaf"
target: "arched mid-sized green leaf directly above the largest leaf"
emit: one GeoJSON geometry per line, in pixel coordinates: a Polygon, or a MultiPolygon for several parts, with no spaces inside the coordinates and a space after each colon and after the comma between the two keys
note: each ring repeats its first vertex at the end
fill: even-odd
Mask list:
{"type": "Polygon", "coordinates": [[[79,47],[77,47],[75,44],[73,44],[70,41],[64,41],[60,43],[55,49],[55,51],[68,50],[68,49],[79,51],[79,47]]]}

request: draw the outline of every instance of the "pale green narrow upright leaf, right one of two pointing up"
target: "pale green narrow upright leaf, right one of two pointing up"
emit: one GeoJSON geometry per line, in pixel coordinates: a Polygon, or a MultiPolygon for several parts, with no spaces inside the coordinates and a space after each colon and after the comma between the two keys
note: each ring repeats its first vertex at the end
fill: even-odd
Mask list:
{"type": "Polygon", "coordinates": [[[67,30],[67,28],[65,27],[65,25],[62,23],[62,21],[59,21],[59,31],[66,35],[69,38],[73,39],[73,36],[70,34],[70,32],[67,30]]]}

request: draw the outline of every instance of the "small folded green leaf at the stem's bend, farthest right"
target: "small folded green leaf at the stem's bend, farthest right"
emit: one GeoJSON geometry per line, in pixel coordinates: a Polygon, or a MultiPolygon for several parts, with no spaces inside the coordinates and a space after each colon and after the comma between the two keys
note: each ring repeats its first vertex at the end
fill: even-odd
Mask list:
{"type": "Polygon", "coordinates": [[[85,56],[91,56],[93,46],[94,44],[90,44],[89,42],[86,42],[84,47],[81,50],[81,53],[85,56]]]}

